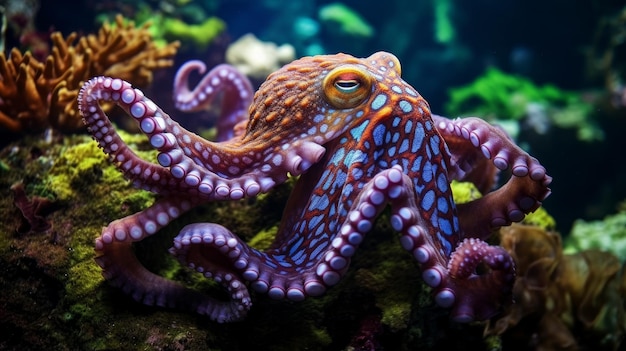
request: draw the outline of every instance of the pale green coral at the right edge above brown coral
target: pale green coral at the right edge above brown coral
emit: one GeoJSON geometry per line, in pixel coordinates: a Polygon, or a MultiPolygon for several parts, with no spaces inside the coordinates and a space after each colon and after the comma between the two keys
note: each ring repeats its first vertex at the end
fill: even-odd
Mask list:
{"type": "Polygon", "coordinates": [[[606,216],[603,220],[574,222],[565,238],[563,252],[567,254],[587,249],[608,251],[621,262],[626,261],[626,211],[606,216]]]}

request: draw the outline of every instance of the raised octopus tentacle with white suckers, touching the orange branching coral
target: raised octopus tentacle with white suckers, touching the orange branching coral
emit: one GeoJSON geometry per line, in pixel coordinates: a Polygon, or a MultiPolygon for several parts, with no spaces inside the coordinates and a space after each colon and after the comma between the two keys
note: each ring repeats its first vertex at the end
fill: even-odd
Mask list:
{"type": "MultiPolygon", "coordinates": [[[[159,151],[159,164],[169,168],[175,178],[168,177],[172,182],[162,181],[163,188],[169,189],[173,184],[177,190],[185,189],[207,199],[236,200],[266,192],[284,182],[287,173],[304,172],[325,151],[317,144],[303,141],[294,143],[288,150],[279,148],[282,154],[277,156],[275,147],[258,152],[256,145],[241,144],[237,140],[206,141],[185,130],[140,90],[120,79],[93,78],[82,87],[79,98],[81,113],[94,138],[108,145],[107,136],[97,134],[103,133],[100,125],[110,126],[110,122],[104,122],[108,117],[100,109],[99,101],[117,103],[136,119],[150,144],[159,151]]],[[[112,149],[119,148],[114,145],[112,149]]],[[[139,172],[148,171],[139,169],[139,172]]]]}

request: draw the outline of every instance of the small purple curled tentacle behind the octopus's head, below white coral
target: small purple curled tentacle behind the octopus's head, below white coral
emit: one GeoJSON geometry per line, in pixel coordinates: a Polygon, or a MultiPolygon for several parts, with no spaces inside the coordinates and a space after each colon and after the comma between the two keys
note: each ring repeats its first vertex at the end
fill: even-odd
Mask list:
{"type": "MultiPolygon", "coordinates": [[[[177,109],[186,112],[206,110],[221,99],[217,120],[217,141],[226,141],[236,136],[235,126],[248,120],[248,108],[252,103],[250,80],[234,67],[221,64],[211,69],[189,90],[189,75],[193,71],[203,74],[206,65],[192,60],[183,64],[174,78],[174,103],[177,109]]],[[[242,131],[243,128],[238,130],[242,131]]]]}

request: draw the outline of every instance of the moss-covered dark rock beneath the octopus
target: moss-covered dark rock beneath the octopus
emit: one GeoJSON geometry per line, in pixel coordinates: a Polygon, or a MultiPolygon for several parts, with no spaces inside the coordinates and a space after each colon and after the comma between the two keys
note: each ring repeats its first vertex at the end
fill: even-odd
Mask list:
{"type": "MultiPolygon", "coordinates": [[[[122,137],[143,158],[154,160],[145,137],[122,137]]],[[[0,162],[0,209],[6,218],[0,223],[2,349],[341,350],[364,340],[397,350],[450,345],[447,311],[435,306],[387,214],[365,238],[342,281],[324,296],[294,303],[253,292],[246,319],[220,325],[204,316],[144,306],[104,280],[94,261],[94,239],[102,227],[145,209],[156,196],[133,188],[89,137],[25,138],[0,151],[0,162]],[[10,187],[17,182],[29,199],[52,201],[54,208],[45,216],[49,230],[16,232],[22,218],[10,187]]],[[[256,198],[196,208],[135,244],[137,257],[159,275],[223,296],[219,285],[168,254],[172,238],[189,223],[210,221],[266,249],[293,183],[256,198]]],[[[454,328],[482,345],[480,327],[454,328]]]]}

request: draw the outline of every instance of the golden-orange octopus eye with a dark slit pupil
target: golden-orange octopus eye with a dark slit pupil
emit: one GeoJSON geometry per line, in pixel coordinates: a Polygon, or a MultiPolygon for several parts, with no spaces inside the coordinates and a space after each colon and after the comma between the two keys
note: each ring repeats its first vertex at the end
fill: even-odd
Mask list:
{"type": "Polygon", "coordinates": [[[330,71],[322,83],[323,94],[333,107],[356,107],[365,100],[372,88],[371,76],[361,68],[348,66],[330,71]]]}

